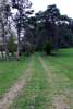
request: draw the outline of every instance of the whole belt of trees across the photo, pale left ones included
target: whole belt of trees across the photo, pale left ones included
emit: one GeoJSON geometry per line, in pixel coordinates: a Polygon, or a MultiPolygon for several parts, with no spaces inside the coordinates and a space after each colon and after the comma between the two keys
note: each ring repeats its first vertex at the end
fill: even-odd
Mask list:
{"type": "Polygon", "coordinates": [[[73,19],[62,15],[56,4],[34,15],[28,0],[0,0],[0,51],[9,60],[24,52],[73,47],[73,19]]]}

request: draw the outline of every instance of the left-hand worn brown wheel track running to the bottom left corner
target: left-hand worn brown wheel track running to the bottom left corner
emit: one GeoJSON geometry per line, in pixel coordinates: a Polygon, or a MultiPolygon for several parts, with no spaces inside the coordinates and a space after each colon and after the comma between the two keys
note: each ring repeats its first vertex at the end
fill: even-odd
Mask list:
{"type": "Polygon", "coordinates": [[[9,109],[10,105],[13,102],[14,98],[20,95],[23,87],[26,85],[27,81],[31,78],[32,64],[28,64],[28,68],[25,73],[17,80],[17,82],[9,89],[8,93],[3,95],[3,98],[0,99],[0,109],[9,109]]]}

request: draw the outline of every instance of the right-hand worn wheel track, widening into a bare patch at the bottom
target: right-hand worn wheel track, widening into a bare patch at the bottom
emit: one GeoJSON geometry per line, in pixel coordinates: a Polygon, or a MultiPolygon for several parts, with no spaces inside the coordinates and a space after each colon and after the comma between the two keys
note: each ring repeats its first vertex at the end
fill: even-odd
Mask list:
{"type": "MultiPolygon", "coordinates": [[[[53,82],[54,82],[54,78],[53,78],[53,73],[52,71],[45,64],[44,60],[41,59],[41,57],[39,57],[39,61],[41,62],[45,71],[47,72],[48,74],[48,81],[50,83],[50,88],[53,89],[53,82]]],[[[66,97],[64,95],[61,95],[61,94],[53,94],[53,90],[51,92],[51,96],[52,96],[52,106],[53,106],[53,109],[71,109],[70,108],[70,105],[66,102],[66,97]]]]}

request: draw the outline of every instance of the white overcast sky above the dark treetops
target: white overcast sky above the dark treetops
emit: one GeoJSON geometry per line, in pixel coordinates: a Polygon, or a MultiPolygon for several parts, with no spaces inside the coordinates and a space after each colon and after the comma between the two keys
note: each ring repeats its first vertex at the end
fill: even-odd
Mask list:
{"type": "Polygon", "coordinates": [[[31,0],[35,12],[45,10],[47,5],[56,3],[62,14],[73,17],[73,0],[31,0]]]}

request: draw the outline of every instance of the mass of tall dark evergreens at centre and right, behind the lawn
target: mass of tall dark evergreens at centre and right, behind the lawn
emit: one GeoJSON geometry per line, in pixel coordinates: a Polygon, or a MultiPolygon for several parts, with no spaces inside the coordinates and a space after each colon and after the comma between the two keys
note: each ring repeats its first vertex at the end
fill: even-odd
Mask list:
{"type": "Polygon", "coordinates": [[[49,5],[44,12],[39,11],[29,23],[34,26],[35,45],[42,49],[47,40],[52,40],[52,47],[71,47],[73,45],[73,20],[61,15],[56,4],[49,5]]]}

